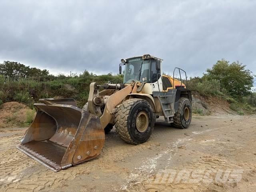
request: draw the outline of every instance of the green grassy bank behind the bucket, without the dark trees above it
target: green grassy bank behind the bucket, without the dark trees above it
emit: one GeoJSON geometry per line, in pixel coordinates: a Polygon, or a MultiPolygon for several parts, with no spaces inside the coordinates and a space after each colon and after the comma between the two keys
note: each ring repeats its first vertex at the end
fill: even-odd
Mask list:
{"type": "Polygon", "coordinates": [[[0,75],[0,102],[17,101],[33,108],[33,103],[40,98],[74,98],[81,108],[88,100],[90,83],[104,84],[108,81],[122,82],[122,75],[106,74],[97,76],[85,71],[80,76],[62,77],[54,80],[40,81],[33,78],[12,80],[0,75]],[[68,85],[68,86],[67,86],[68,85]],[[69,87],[73,88],[70,89],[69,87]]]}

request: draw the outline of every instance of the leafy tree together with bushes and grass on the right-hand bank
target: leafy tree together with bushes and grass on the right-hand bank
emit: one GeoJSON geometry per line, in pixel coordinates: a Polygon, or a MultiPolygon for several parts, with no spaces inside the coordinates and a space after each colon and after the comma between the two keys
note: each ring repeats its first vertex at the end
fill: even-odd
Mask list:
{"type": "Polygon", "coordinates": [[[240,62],[218,60],[200,77],[190,78],[188,88],[204,96],[219,96],[230,108],[242,115],[256,107],[256,93],[252,92],[255,75],[240,62]]]}

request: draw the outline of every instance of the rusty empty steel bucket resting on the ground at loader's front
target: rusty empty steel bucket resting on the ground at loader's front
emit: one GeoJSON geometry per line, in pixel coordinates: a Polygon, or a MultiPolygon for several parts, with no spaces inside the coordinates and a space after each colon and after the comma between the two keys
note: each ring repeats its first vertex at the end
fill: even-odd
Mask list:
{"type": "Polygon", "coordinates": [[[100,154],[105,134],[98,116],[81,110],[70,99],[40,102],[34,104],[36,117],[19,150],[54,172],[100,154]]]}

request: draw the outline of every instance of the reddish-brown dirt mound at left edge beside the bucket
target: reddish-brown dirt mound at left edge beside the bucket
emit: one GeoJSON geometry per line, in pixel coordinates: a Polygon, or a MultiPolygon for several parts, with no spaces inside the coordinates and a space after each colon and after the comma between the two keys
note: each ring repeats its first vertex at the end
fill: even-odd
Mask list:
{"type": "Polygon", "coordinates": [[[34,112],[28,106],[18,102],[7,102],[0,106],[0,128],[27,126],[26,114],[34,112]]]}

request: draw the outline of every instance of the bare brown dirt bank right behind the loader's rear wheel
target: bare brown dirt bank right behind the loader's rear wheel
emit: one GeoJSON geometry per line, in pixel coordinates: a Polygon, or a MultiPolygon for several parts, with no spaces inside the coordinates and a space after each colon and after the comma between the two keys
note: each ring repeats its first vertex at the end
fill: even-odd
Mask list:
{"type": "Polygon", "coordinates": [[[192,107],[201,110],[202,114],[234,114],[230,104],[223,98],[217,96],[202,96],[193,92],[192,107]]]}

